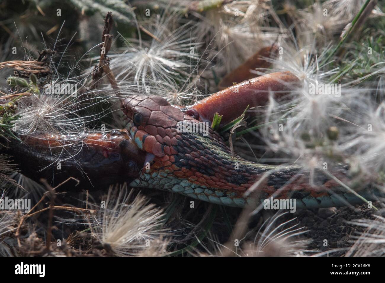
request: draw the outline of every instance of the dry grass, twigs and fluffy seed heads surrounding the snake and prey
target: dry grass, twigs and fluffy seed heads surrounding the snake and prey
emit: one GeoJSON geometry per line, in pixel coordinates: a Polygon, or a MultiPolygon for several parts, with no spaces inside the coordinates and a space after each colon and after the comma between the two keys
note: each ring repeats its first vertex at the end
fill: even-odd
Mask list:
{"type": "MultiPolygon", "coordinates": [[[[343,162],[358,176],[355,190],[368,176],[382,184],[383,3],[67,2],[0,4],[7,14],[0,12],[0,138],[8,154],[0,155],[0,198],[32,203],[29,212],[0,210],[0,255],[385,254],[382,201],[375,203],[378,210],[362,205],[294,214],[203,201],[191,208],[184,196],[127,184],[87,190],[69,178],[52,187],[23,176],[8,152],[20,137],[69,135],[65,146],[49,152],[49,168],[58,160],[77,160],[85,146],[81,133],[124,128],[116,98],[150,90],[173,104],[190,105],[217,92],[225,83],[221,79],[269,47],[275,52],[252,73],[290,71],[301,85],[290,100],[271,96],[268,105],[253,109],[256,118],[235,133],[234,151],[252,161],[296,162],[309,170],[325,161],[343,162]],[[44,93],[50,82],[76,84],[77,96],[44,93]],[[339,83],[340,96],[310,93],[313,83],[339,83]]],[[[229,130],[223,136],[228,139],[229,130]]]]}

